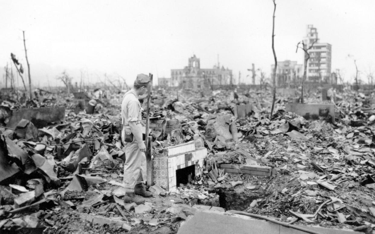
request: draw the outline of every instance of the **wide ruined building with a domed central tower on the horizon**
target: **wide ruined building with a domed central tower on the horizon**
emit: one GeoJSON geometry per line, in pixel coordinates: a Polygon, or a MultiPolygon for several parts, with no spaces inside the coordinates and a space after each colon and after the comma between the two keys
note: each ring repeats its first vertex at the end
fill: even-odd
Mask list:
{"type": "Polygon", "coordinates": [[[184,69],[171,69],[171,86],[186,89],[209,88],[211,85],[225,85],[232,78],[232,70],[220,68],[219,62],[212,69],[201,69],[200,60],[195,55],[189,58],[184,69]]]}

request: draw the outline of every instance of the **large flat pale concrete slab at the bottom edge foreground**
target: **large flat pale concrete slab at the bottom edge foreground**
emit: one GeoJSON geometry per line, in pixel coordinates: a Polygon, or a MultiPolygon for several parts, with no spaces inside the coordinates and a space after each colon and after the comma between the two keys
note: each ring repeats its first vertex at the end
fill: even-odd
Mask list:
{"type": "MultiPolygon", "coordinates": [[[[249,217],[243,216],[230,216],[228,213],[224,215],[198,211],[195,213],[193,218],[188,219],[180,229],[177,234],[196,234],[196,233],[215,233],[215,234],[306,234],[303,231],[299,231],[293,228],[283,227],[279,224],[274,224],[271,222],[251,219],[249,217]]],[[[305,225],[297,225],[299,227],[307,228],[309,230],[314,230],[322,234],[360,234],[359,232],[354,232],[350,230],[339,230],[332,228],[323,227],[312,227],[305,225]]]]}

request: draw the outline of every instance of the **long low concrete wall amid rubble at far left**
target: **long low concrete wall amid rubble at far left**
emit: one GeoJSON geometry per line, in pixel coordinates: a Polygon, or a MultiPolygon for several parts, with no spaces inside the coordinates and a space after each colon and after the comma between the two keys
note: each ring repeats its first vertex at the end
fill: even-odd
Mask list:
{"type": "Polygon", "coordinates": [[[65,106],[62,107],[41,107],[22,108],[13,110],[13,115],[6,127],[15,128],[21,119],[31,121],[37,128],[45,127],[48,123],[65,122],[65,106]]]}

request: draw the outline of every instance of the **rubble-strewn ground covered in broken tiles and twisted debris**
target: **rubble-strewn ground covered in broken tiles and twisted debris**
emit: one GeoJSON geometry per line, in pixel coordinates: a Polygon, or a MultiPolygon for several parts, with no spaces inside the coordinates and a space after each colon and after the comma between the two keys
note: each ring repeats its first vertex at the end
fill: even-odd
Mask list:
{"type": "MultiPolygon", "coordinates": [[[[186,142],[198,135],[209,155],[202,174],[192,178],[191,184],[163,196],[155,194],[140,206],[121,200],[121,94],[102,99],[92,115],[78,110],[72,96],[45,93],[46,99],[40,95],[26,106],[64,105],[66,124],[39,130],[31,123],[24,123],[23,130],[0,128],[0,164],[6,169],[0,174],[1,233],[177,233],[194,213],[189,207],[195,204],[371,233],[375,223],[374,111],[366,101],[369,97],[361,92],[345,90],[340,95],[332,124],[285,112],[285,104],[293,98],[279,96],[270,119],[271,95],[264,90],[242,90],[238,98],[225,90],[154,90],[151,116],[177,119],[182,126],[163,139],[152,131],[157,138],[153,147],[186,142]],[[243,103],[252,104],[251,115],[235,119],[234,106],[243,103]],[[219,123],[217,116],[229,117],[214,125],[219,123]],[[211,140],[212,134],[216,136],[211,140]],[[219,168],[216,178],[210,175],[214,162],[219,168]],[[240,168],[249,162],[272,167],[272,176],[220,169],[223,164],[240,168]],[[20,171],[7,176],[12,163],[20,171]],[[26,196],[29,191],[35,193],[26,196]]],[[[330,103],[321,101],[317,90],[305,102],[330,103]]],[[[14,109],[20,103],[3,98],[2,105],[14,109]]]]}

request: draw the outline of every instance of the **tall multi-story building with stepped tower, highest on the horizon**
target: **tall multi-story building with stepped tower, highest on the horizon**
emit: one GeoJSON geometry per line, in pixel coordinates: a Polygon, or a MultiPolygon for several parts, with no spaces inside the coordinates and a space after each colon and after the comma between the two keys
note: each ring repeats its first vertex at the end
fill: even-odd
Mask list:
{"type": "Polygon", "coordinates": [[[308,50],[310,58],[307,64],[307,81],[326,83],[331,78],[332,45],[319,42],[317,28],[314,28],[312,24],[307,25],[306,33],[306,37],[303,38],[305,48],[309,48],[313,45],[312,48],[308,50]]]}

